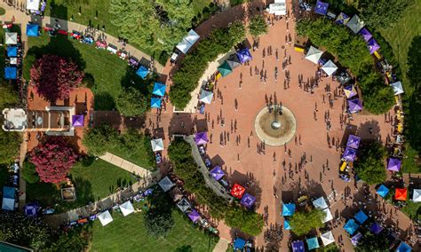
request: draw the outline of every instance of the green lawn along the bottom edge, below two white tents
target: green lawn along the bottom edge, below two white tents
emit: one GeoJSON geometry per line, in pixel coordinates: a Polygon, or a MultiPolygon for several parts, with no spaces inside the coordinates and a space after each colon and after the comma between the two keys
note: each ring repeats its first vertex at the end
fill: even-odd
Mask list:
{"type": "Polygon", "coordinates": [[[123,217],[114,213],[114,221],[102,226],[95,221],[92,227],[91,251],[212,251],[217,240],[210,240],[203,232],[193,228],[179,210],[172,214],[174,228],[166,238],[150,238],[143,221],[143,213],[123,217]]]}

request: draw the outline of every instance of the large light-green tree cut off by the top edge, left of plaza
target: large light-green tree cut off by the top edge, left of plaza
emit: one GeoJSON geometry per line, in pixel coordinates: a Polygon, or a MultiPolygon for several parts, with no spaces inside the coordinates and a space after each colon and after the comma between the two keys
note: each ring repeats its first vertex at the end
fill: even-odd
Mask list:
{"type": "Polygon", "coordinates": [[[170,52],[187,35],[194,17],[187,0],[111,0],[109,12],[121,35],[148,51],[170,52]]]}

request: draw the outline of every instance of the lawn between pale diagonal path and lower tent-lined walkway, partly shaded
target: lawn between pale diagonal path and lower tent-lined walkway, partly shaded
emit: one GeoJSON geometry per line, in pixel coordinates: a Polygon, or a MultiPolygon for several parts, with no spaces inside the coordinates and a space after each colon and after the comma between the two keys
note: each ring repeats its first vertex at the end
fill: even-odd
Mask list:
{"type": "Polygon", "coordinates": [[[136,182],[130,172],[102,160],[77,163],[70,171],[70,176],[75,184],[76,201],[61,201],[57,186],[43,182],[27,183],[27,201],[38,201],[42,206],[58,204],[56,210],[63,212],[103,199],[115,193],[116,188],[136,182]]]}

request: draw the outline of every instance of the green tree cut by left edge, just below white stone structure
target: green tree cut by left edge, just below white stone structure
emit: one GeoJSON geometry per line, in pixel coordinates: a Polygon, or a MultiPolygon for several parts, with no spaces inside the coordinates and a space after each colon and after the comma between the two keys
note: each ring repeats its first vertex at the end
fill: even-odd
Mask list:
{"type": "Polygon", "coordinates": [[[19,154],[22,137],[15,131],[0,130],[0,163],[9,164],[19,154]],[[4,147],[7,146],[7,147],[4,147]]]}

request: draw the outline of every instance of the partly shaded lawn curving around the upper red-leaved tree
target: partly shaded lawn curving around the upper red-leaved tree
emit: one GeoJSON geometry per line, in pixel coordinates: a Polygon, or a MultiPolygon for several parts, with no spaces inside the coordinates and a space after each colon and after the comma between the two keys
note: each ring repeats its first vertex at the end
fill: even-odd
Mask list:
{"type": "Polygon", "coordinates": [[[79,43],[65,35],[50,37],[45,33],[40,37],[28,38],[28,54],[24,61],[24,77],[30,79],[30,67],[34,61],[44,54],[56,54],[73,59],[86,75],[92,75],[94,86],[91,88],[95,95],[95,110],[115,109],[115,99],[122,87],[133,80],[137,85],[145,85],[134,71],[127,66],[123,59],[109,54],[104,50],[97,50],[93,45],[79,43]]]}

